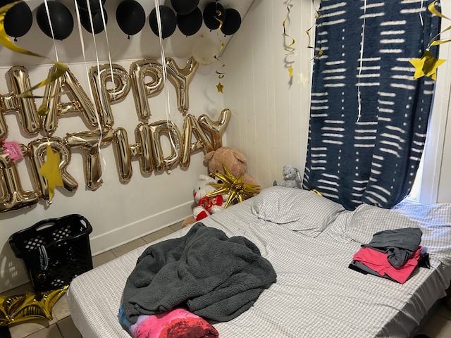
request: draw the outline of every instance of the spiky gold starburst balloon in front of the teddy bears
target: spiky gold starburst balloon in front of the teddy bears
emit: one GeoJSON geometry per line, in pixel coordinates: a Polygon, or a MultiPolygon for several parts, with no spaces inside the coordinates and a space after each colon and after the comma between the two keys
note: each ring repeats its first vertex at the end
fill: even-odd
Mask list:
{"type": "Polygon", "coordinates": [[[224,208],[227,208],[234,202],[242,202],[259,193],[259,190],[255,189],[259,187],[259,185],[245,184],[242,182],[242,174],[239,177],[235,177],[233,173],[230,173],[230,170],[228,170],[226,165],[223,165],[223,168],[224,174],[214,173],[215,177],[218,177],[222,183],[210,183],[213,187],[218,189],[206,194],[206,197],[228,194],[226,204],[224,205],[224,208]]]}

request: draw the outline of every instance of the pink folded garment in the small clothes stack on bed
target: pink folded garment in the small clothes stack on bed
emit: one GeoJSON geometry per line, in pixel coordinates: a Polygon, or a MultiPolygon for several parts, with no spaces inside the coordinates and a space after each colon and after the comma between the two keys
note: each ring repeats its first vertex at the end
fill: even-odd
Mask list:
{"type": "Polygon", "coordinates": [[[390,279],[395,280],[401,284],[406,282],[412,272],[415,270],[418,265],[418,261],[420,258],[421,246],[412,253],[406,263],[402,265],[400,268],[395,268],[390,262],[387,260],[387,253],[377,251],[371,248],[362,248],[354,254],[352,258],[353,261],[357,261],[362,263],[367,268],[375,271],[381,276],[388,276],[390,279]]]}

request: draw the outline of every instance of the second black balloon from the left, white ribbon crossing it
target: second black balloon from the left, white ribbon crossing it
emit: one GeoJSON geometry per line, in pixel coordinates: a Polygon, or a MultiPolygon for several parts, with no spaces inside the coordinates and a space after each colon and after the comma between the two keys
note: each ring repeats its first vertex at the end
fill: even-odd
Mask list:
{"type": "MultiPolygon", "coordinates": [[[[72,14],[70,14],[68,8],[61,4],[61,2],[50,0],[47,1],[47,6],[49,6],[51,27],[54,31],[55,39],[66,39],[66,37],[68,37],[73,30],[72,14]]],[[[36,21],[42,32],[44,32],[47,37],[52,37],[44,2],[37,6],[36,21]]]]}

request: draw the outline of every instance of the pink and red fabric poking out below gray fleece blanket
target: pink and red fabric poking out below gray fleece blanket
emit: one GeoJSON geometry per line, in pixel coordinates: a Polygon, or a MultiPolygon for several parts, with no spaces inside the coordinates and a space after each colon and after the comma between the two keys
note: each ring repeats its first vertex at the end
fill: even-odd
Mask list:
{"type": "Polygon", "coordinates": [[[194,313],[176,308],[157,315],[140,315],[129,332],[133,338],[216,338],[218,331],[194,313]]]}

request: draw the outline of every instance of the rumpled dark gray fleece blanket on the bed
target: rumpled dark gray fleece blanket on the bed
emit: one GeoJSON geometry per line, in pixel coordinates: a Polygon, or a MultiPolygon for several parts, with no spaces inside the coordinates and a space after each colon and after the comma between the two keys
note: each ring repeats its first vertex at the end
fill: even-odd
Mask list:
{"type": "Polygon", "coordinates": [[[245,237],[227,237],[196,223],[183,237],[149,246],[125,284],[123,313],[138,315],[183,307],[203,318],[231,320],[276,282],[276,271],[245,237]]]}

